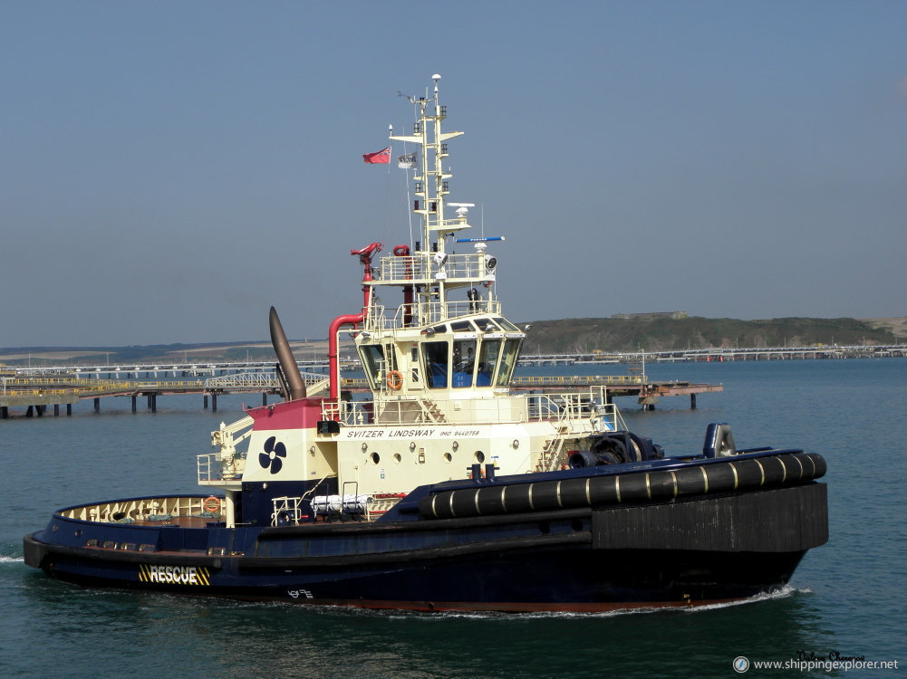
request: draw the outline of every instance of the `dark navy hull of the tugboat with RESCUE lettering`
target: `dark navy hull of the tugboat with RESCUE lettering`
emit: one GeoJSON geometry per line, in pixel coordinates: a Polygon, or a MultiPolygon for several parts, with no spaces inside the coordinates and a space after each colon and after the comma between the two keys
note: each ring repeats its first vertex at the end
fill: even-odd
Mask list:
{"type": "MultiPolygon", "coordinates": [[[[793,453],[784,452],[788,464],[782,466],[793,468],[793,453]]],[[[768,458],[778,457],[773,453],[751,457],[770,470],[774,462],[768,458]]],[[[799,460],[797,466],[805,469],[803,453],[799,460]]],[[[687,606],[784,586],[806,550],[827,541],[825,486],[814,481],[824,473],[824,462],[797,478],[785,471],[785,478],[769,487],[764,474],[753,489],[740,487],[746,485],[743,460],[727,474],[736,488],[720,487],[726,474],[718,464],[707,468],[711,492],[671,498],[659,497],[658,490],[653,498],[657,474],[673,472],[682,489],[680,470],[702,476],[703,465],[624,470],[622,483],[613,480],[614,470],[533,475],[540,479],[532,483],[536,503],[550,494],[549,482],[558,484],[561,504],[570,505],[574,495],[583,504],[571,494],[573,486],[588,489],[594,501],[515,513],[487,498],[506,500],[510,493],[504,504],[519,509],[525,488],[519,477],[423,487],[372,523],[179,528],[98,523],[58,513],[47,529],[24,538],[25,560],[51,577],[92,587],[417,610],[687,606]],[[548,481],[556,478],[561,480],[548,481]],[[606,497],[611,483],[623,489],[617,503],[606,497]],[[634,487],[645,497],[627,498],[634,487]],[[437,513],[440,504],[488,515],[424,516],[437,513]]]]}

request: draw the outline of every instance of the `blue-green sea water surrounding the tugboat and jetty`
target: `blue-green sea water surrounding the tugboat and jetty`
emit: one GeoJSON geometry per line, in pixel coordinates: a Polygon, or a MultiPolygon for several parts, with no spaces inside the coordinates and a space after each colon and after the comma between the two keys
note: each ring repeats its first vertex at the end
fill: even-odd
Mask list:
{"type": "Polygon", "coordinates": [[[751,676],[902,674],[907,359],[647,371],[655,380],[725,388],[700,394],[696,410],[685,396],[662,399],[651,412],[635,399],[617,400],[629,428],[668,454],[701,450],[707,423],[729,422],[738,448],[824,456],[829,542],[807,553],[788,587],[735,605],[598,615],[325,610],[74,587],[24,565],[23,535],[67,505],[195,492],[195,456],[210,451],[219,422],[239,419],[243,401],[221,396],[211,412],[199,395],[165,396],[156,413],[133,414],[128,399],[108,398],[99,413],[86,402],[72,417],[0,421],[0,676],[720,677],[739,675],[738,657],[751,676]],[[827,674],[808,666],[835,658],[899,668],[827,674]],[[781,668],[756,666],[766,662],[781,668]]]}

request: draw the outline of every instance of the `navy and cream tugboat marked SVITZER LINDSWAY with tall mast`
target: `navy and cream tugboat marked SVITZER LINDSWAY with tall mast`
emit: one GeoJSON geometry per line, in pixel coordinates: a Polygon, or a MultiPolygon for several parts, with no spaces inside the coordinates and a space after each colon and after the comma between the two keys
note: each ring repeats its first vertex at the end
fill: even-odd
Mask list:
{"type": "Polygon", "coordinates": [[[602,611],[751,597],[827,541],[818,454],[738,451],[716,423],[701,453],[666,456],[602,387],[510,389],[526,329],[495,294],[502,238],[467,236],[473,205],[448,201],[447,141],[462,132],[442,131],[433,80],[410,99],[413,133],[390,137],[418,149],[405,161],[420,239],[350,252],[363,305],[330,325],[326,383],[299,373],[272,307],[285,400],[212,432],[204,491],[59,509],[24,538],[29,566],[306,605],[602,611]],[[383,306],[385,287],[399,306],[383,306]],[[343,389],[346,331],[368,400],[343,389]]]}

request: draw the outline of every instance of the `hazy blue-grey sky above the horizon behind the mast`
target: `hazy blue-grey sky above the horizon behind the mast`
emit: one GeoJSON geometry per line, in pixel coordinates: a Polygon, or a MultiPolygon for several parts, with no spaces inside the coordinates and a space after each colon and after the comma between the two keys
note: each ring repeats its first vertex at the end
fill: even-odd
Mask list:
{"type": "Polygon", "coordinates": [[[513,320],[907,315],[907,2],[0,0],[0,54],[0,346],[326,336],[432,73],[513,320]]]}

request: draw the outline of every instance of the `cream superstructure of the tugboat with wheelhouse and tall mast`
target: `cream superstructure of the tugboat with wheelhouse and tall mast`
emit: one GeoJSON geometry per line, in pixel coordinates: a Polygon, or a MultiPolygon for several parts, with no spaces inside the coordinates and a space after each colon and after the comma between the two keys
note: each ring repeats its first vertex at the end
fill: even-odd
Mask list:
{"type": "Polygon", "coordinates": [[[420,239],[383,256],[380,243],[351,253],[363,266],[363,308],[331,325],[329,397],[254,409],[214,432],[218,451],[200,456],[200,483],[226,490],[228,509],[251,487],[243,484],[287,485],[274,499],[275,523],[297,520],[292,508],[328,486],[382,507],[418,485],[468,478],[476,464],[499,474],[560,469],[571,451],[589,450],[590,435],[625,428],[601,387],[511,393],[526,333],[495,295],[489,246],[502,238],[469,238],[473,205],[447,200],[447,141],[462,132],[442,131],[447,112],[440,76],[433,79],[434,96],[411,100],[413,133],[391,136],[419,148],[412,208],[420,239]],[[393,297],[400,303],[381,301],[393,297]],[[350,326],[372,392],[365,401],[340,393],[337,335],[350,326]],[[248,450],[238,452],[247,437],[248,450]]]}

